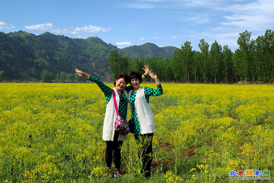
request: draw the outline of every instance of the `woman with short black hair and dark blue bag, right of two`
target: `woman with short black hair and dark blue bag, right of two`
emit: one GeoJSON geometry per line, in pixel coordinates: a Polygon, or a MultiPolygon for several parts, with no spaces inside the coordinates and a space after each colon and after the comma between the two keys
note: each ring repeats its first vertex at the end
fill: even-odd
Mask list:
{"type": "Polygon", "coordinates": [[[159,96],[164,93],[156,74],[151,71],[149,72],[149,75],[153,80],[155,80],[157,89],[141,87],[141,73],[131,72],[129,77],[130,85],[133,87],[133,90],[130,90],[128,93],[130,111],[132,112],[133,121],[135,123],[134,137],[137,142],[142,145],[142,153],[139,154],[139,158],[142,159],[142,171],[145,172],[144,176],[146,178],[150,177],[150,166],[152,163],[152,139],[153,133],[155,132],[155,123],[149,105],[149,97],[159,96]],[[145,142],[146,139],[148,142],[145,142]]]}

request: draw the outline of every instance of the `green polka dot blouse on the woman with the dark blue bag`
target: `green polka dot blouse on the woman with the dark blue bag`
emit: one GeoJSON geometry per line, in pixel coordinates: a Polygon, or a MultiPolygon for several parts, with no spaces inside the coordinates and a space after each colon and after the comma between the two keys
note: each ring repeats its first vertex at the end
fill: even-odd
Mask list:
{"type": "MultiPolygon", "coordinates": [[[[149,103],[149,96],[154,97],[154,96],[162,95],[164,93],[161,84],[157,85],[157,89],[144,87],[144,92],[145,92],[145,100],[147,101],[147,103],[149,103]]],[[[129,102],[133,106],[133,109],[134,109],[132,111],[133,112],[133,114],[132,114],[133,121],[135,122],[134,134],[141,134],[139,120],[138,120],[136,110],[135,110],[135,107],[134,107],[135,97],[136,97],[136,92],[132,92],[131,95],[130,95],[130,98],[129,98],[129,102]]]]}

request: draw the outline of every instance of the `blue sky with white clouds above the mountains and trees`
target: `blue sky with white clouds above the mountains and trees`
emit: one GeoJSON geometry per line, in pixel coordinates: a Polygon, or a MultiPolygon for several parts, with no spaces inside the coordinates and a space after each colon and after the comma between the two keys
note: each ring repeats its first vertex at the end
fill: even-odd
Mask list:
{"type": "Polygon", "coordinates": [[[274,29],[273,0],[2,0],[0,31],[50,32],[70,38],[97,36],[124,48],[144,43],[193,50],[204,39],[234,52],[239,33],[252,38],[274,29]]]}

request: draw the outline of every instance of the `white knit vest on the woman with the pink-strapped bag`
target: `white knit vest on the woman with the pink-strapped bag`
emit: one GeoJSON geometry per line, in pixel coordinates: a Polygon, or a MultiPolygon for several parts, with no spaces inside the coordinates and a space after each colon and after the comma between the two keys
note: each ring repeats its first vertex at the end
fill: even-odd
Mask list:
{"type": "MultiPolygon", "coordinates": [[[[116,95],[116,102],[117,106],[119,106],[119,93],[117,92],[116,88],[113,88],[116,95]]],[[[127,91],[123,90],[124,94],[127,95],[127,91]]],[[[117,118],[115,105],[114,105],[114,98],[113,95],[109,100],[109,103],[107,103],[107,108],[105,111],[105,119],[104,119],[104,125],[103,125],[103,137],[102,139],[105,141],[113,141],[114,139],[114,123],[117,118]]],[[[127,111],[127,110],[126,110],[127,111]]],[[[124,119],[126,120],[126,119],[124,119]]],[[[127,135],[119,134],[118,141],[124,141],[127,140],[127,135]]]]}

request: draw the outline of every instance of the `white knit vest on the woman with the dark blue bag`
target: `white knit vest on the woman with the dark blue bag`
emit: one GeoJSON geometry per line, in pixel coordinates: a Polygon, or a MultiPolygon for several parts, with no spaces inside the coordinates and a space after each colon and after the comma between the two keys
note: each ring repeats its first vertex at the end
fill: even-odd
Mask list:
{"type": "MultiPolygon", "coordinates": [[[[128,98],[133,90],[129,91],[128,98]]],[[[135,110],[140,124],[141,134],[154,133],[155,124],[153,114],[150,109],[149,103],[145,100],[145,91],[143,87],[140,87],[136,92],[135,97],[135,110]]],[[[130,111],[132,112],[132,107],[130,105],[130,111]]]]}

